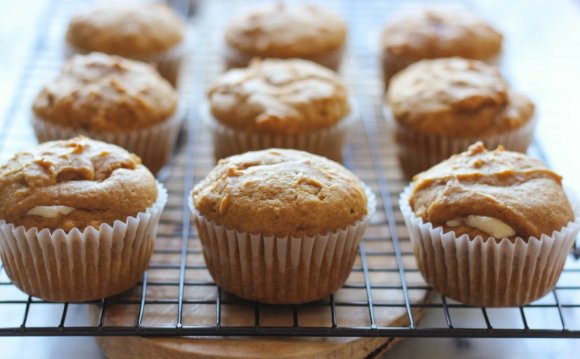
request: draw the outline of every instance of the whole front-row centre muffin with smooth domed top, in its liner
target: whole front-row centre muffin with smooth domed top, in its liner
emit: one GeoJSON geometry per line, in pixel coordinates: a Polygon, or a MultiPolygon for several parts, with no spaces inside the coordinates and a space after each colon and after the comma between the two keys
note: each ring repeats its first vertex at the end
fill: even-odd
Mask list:
{"type": "Polygon", "coordinates": [[[190,206],[218,285],[244,299],[298,304],[344,284],[375,199],[336,162],[269,149],[221,160],[190,206]]]}

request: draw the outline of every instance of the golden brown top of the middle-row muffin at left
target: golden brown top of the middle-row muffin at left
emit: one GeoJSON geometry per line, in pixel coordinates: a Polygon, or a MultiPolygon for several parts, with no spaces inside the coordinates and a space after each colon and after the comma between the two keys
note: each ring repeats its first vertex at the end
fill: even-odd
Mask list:
{"type": "Polygon", "coordinates": [[[168,120],[177,99],[150,65],[91,53],[69,59],[32,108],[36,116],[63,127],[123,132],[168,120]]]}

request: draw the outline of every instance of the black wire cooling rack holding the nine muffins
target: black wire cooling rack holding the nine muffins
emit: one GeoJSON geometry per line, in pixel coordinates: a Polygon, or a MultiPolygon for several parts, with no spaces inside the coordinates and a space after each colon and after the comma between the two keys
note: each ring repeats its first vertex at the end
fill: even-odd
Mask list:
{"type": "MultiPolygon", "coordinates": [[[[256,1],[254,1],[256,2],[256,1]]],[[[174,0],[172,3],[179,3],[174,0]]],[[[360,246],[346,285],[329,298],[299,306],[267,306],[222,292],[207,273],[200,242],[187,209],[193,184],[213,167],[212,144],[197,109],[205,88],[222,71],[222,29],[242,1],[206,1],[190,18],[191,55],[180,88],[189,108],[188,125],[171,164],[159,175],[169,189],[155,252],[143,281],[133,291],[92,303],[51,303],[25,295],[0,267],[0,336],[344,336],[344,337],[580,337],[580,263],[571,255],[555,290],[525,307],[478,308],[431,293],[413,257],[397,206],[406,181],[382,111],[382,82],[376,43],[385,18],[402,1],[326,1],[349,21],[349,49],[342,69],[359,112],[345,150],[345,165],[377,194],[377,213],[360,246]],[[160,296],[159,293],[164,293],[160,296]],[[430,299],[430,300],[427,300],[430,299]],[[204,307],[205,306],[205,307],[204,307]],[[39,320],[50,307],[54,323],[39,320]],[[148,320],[152,308],[169,308],[169,323],[148,320]],[[205,308],[209,317],[190,315],[205,308]],[[80,312],[92,309],[94,321],[80,312]],[[124,324],[109,316],[130,308],[124,324]],[[233,316],[235,308],[247,314],[233,316]],[[240,309],[241,308],[241,309],[240,309]],[[308,313],[327,313],[322,325],[308,325],[308,313]],[[288,320],[271,324],[282,313],[288,320]],[[419,316],[427,313],[427,320],[419,316]],[[249,317],[248,317],[249,315],[249,317]],[[81,318],[81,319],[79,319],[81,318]],[[396,318],[396,320],[393,320],[396,318]],[[54,319],[54,318],[53,318],[54,319]],[[270,324],[269,324],[270,323],[270,324]]],[[[85,5],[56,1],[47,10],[41,34],[7,117],[0,124],[0,157],[34,145],[28,124],[30,104],[62,63],[62,36],[70,14],[85,5]]],[[[183,5],[183,3],[181,4],[183,5]]],[[[182,7],[183,9],[183,7],[182,7]]],[[[187,6],[185,11],[191,9],[187,6]]],[[[541,157],[538,147],[532,151],[541,157]]],[[[157,310],[157,312],[162,311],[157,310]]],[[[239,311],[238,311],[239,312],[239,311]]]]}

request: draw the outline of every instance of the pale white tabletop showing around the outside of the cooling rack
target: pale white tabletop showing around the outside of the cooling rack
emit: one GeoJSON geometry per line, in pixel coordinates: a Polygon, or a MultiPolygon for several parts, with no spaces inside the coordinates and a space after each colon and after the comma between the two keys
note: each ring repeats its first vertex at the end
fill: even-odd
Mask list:
{"type": "MultiPolygon", "coordinates": [[[[551,166],[580,192],[580,2],[475,3],[506,35],[503,70],[512,85],[538,105],[537,137],[551,166]]],[[[47,0],[0,0],[0,119],[18,85],[45,6],[47,0]]],[[[51,318],[60,312],[47,310],[41,315],[51,318]]],[[[428,314],[426,323],[431,320],[435,319],[428,314]]],[[[577,358],[579,351],[580,340],[407,339],[385,357],[577,358]]],[[[0,338],[0,358],[91,359],[102,355],[93,338],[11,337],[0,338]]]]}

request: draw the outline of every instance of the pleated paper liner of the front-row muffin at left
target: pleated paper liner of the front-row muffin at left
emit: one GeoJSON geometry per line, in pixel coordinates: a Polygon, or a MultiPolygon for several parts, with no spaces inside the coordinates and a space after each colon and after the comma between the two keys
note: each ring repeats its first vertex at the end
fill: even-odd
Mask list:
{"type": "Polygon", "coordinates": [[[0,220],[0,255],[6,274],[23,292],[49,301],[87,301],[134,286],[147,269],[157,225],[167,202],[158,184],[144,212],[99,228],[14,227],[0,220]]]}

